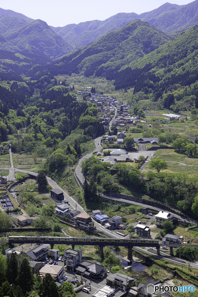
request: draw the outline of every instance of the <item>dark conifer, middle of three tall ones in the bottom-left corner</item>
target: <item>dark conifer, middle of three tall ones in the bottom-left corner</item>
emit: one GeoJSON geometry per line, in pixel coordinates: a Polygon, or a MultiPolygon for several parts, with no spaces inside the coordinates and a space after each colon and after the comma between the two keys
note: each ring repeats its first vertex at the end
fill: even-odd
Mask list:
{"type": "Polygon", "coordinates": [[[23,295],[25,295],[26,292],[30,292],[31,289],[33,289],[34,276],[32,273],[32,268],[30,267],[27,258],[23,259],[21,263],[16,283],[20,286],[23,295]]]}

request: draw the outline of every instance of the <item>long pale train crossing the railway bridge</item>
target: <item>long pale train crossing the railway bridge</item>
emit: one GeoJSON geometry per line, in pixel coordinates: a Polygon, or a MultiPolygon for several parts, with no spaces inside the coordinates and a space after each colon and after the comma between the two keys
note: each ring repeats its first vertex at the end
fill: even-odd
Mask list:
{"type": "Polygon", "coordinates": [[[159,244],[159,240],[156,239],[128,239],[128,238],[87,238],[87,237],[58,237],[58,236],[9,236],[9,241],[42,241],[44,242],[62,242],[68,244],[77,244],[77,242],[87,243],[124,243],[124,244],[159,244]]]}

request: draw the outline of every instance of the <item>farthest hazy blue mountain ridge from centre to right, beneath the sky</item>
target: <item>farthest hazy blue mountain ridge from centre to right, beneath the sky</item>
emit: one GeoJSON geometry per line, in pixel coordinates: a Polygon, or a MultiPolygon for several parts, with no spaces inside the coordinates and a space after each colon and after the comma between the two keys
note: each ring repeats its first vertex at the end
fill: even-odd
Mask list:
{"type": "Polygon", "coordinates": [[[55,28],[51,26],[51,28],[76,47],[88,45],[110,30],[118,30],[118,28],[130,21],[137,19],[148,22],[173,38],[182,31],[198,24],[197,13],[198,0],[186,5],[167,2],[152,11],[144,12],[140,15],[134,12],[123,12],[113,15],[104,21],[93,20],[77,25],[69,24],[64,27],[55,28]]]}

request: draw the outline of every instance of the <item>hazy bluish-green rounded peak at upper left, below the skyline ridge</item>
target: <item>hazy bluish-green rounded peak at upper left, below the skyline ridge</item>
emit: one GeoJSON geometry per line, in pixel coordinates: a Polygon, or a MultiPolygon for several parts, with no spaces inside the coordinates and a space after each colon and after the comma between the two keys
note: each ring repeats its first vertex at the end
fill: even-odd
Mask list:
{"type": "Polygon", "coordinates": [[[46,22],[34,20],[17,31],[7,34],[7,40],[20,50],[44,55],[55,59],[64,53],[69,53],[73,47],[60,35],[54,32],[46,22]]]}

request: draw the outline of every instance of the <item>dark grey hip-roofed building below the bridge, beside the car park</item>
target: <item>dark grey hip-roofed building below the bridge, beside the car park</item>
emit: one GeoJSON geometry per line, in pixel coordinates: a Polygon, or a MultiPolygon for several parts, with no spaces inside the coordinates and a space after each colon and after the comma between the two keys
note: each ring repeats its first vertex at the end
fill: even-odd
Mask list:
{"type": "Polygon", "coordinates": [[[83,261],[76,266],[76,270],[85,277],[101,279],[107,275],[107,270],[99,264],[83,261]]]}

